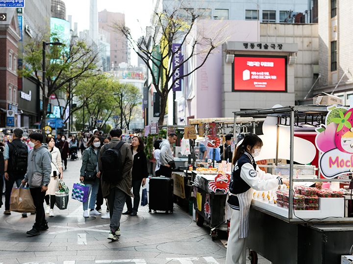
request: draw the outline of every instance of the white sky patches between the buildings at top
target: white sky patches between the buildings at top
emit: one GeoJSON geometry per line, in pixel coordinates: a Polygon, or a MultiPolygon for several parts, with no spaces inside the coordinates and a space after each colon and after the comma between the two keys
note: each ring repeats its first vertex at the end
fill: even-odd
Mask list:
{"type": "MultiPolygon", "coordinates": [[[[78,32],[89,29],[90,0],[63,0],[66,5],[66,16],[72,15],[72,26],[78,23],[78,32]]],[[[144,35],[150,24],[152,0],[97,0],[98,12],[106,9],[110,12],[125,14],[125,24],[131,29],[134,39],[144,35]]],[[[137,55],[131,49],[131,64],[137,65],[137,55]]]]}

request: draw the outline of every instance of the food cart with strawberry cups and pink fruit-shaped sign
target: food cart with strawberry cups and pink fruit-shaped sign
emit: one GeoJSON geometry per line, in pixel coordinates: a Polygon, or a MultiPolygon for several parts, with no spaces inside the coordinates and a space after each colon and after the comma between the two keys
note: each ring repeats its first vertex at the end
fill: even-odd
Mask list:
{"type": "MultiPolygon", "coordinates": [[[[342,109],[342,107],[336,107],[336,109],[342,109]]],[[[340,145],[341,141],[337,141],[336,138],[341,133],[338,132],[341,125],[338,124],[337,127],[337,124],[328,125],[328,123],[332,123],[332,118],[334,121],[338,120],[334,118],[341,118],[344,120],[341,123],[344,124],[346,124],[346,121],[352,122],[353,120],[349,119],[350,114],[348,112],[351,110],[342,111],[346,113],[344,117],[343,113],[340,116],[338,111],[333,112],[333,110],[330,110],[328,112],[326,106],[289,106],[234,112],[234,134],[236,133],[236,123],[239,117],[270,117],[271,120],[276,120],[275,129],[272,130],[274,132],[272,138],[274,138],[275,142],[273,142],[274,147],[271,147],[274,149],[273,151],[275,151],[276,155],[276,161],[273,166],[277,169],[280,166],[287,169],[288,174],[282,174],[282,176],[287,176],[290,181],[287,194],[284,195],[281,191],[275,191],[275,197],[278,195],[283,198],[283,200],[277,200],[276,203],[271,203],[270,198],[267,201],[266,198],[261,198],[263,195],[254,192],[249,220],[249,236],[247,239],[247,247],[251,249],[250,259],[252,264],[257,263],[257,253],[274,264],[334,264],[341,263],[342,255],[351,253],[353,245],[353,218],[350,217],[349,208],[347,208],[347,202],[345,202],[345,200],[350,199],[349,196],[345,196],[344,198],[339,196],[329,198],[329,196],[325,196],[325,193],[332,192],[333,196],[333,194],[336,195],[340,191],[316,189],[314,191],[318,196],[322,194],[324,196],[315,198],[317,204],[314,204],[314,207],[306,204],[306,195],[308,195],[309,202],[311,197],[315,197],[310,194],[315,188],[308,186],[317,184],[320,187],[323,182],[330,182],[332,188],[332,186],[337,186],[337,183],[347,182],[347,178],[337,178],[337,175],[352,174],[353,164],[348,161],[342,162],[341,159],[338,160],[338,156],[336,160],[333,155],[330,155],[332,157],[329,161],[331,167],[325,163],[327,159],[329,160],[328,155],[326,155],[327,153],[337,154],[342,149],[340,145]],[[336,114],[336,117],[332,117],[330,114],[336,114]],[[325,118],[326,126],[323,121],[325,118]],[[311,123],[307,122],[307,120],[311,120],[311,123]],[[297,165],[294,164],[296,159],[303,158],[301,155],[307,155],[307,152],[310,152],[312,149],[311,145],[303,145],[303,142],[294,135],[295,127],[299,127],[302,124],[317,127],[316,131],[319,135],[316,140],[316,147],[321,152],[319,161],[320,172],[314,175],[301,175],[296,170],[297,165]],[[331,127],[334,127],[333,130],[331,127]],[[288,134],[283,136],[281,132],[288,134]],[[328,140],[329,133],[332,133],[335,140],[328,140]],[[327,138],[320,138],[325,136],[327,138]],[[289,140],[288,145],[283,143],[285,142],[283,138],[289,140]],[[328,141],[324,142],[324,139],[328,141]],[[323,141],[325,144],[319,146],[320,142],[318,141],[323,141]],[[332,146],[333,149],[331,150],[329,150],[330,148],[324,151],[321,149],[327,148],[330,144],[336,144],[337,146],[332,146]],[[303,149],[298,149],[302,146],[304,146],[303,149]],[[284,148],[284,150],[281,148],[284,148]],[[279,158],[287,159],[289,164],[279,164],[279,158]],[[337,168],[340,167],[339,165],[343,165],[343,167],[349,165],[351,169],[336,169],[336,165],[337,168]],[[332,168],[336,170],[334,173],[331,173],[332,168]],[[323,178],[324,176],[325,178],[323,178]],[[306,184],[306,187],[298,187],[299,184],[302,186],[306,184]],[[300,188],[302,188],[300,193],[305,194],[304,209],[298,206],[298,199],[302,198],[301,195],[297,194],[300,188]],[[284,201],[284,197],[286,197],[287,202],[284,201]],[[286,204],[286,206],[278,206],[283,204],[286,204]]],[[[347,127],[351,127],[351,125],[347,123],[347,127]]],[[[344,127],[343,130],[345,130],[344,127]]],[[[271,131],[269,128],[263,129],[264,136],[268,133],[266,143],[270,143],[269,131],[271,131]]],[[[342,139],[342,142],[346,143],[346,140],[342,139]]],[[[266,143],[264,142],[264,146],[266,143]]],[[[347,157],[347,155],[352,156],[352,152],[350,154],[340,153],[343,153],[342,157],[347,157]]]]}

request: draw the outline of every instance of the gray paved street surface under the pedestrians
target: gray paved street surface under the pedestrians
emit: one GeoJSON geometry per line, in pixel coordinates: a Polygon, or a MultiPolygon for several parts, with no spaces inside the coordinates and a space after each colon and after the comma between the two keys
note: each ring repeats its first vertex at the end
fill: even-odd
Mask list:
{"type": "MultiPolygon", "coordinates": [[[[69,161],[64,180],[69,188],[78,182],[81,160],[69,161]]],[[[70,194],[71,195],[71,194],[70,194]]],[[[70,199],[68,210],[54,208],[49,230],[27,237],[34,215],[22,218],[0,210],[0,264],[224,264],[226,248],[212,241],[207,227],[199,227],[186,212],[174,205],[174,214],[149,214],[140,207],[137,217],[122,217],[118,242],[107,240],[109,220],[100,216],[84,219],[82,204],[70,199]]],[[[105,204],[103,205],[105,213],[105,204]]],[[[250,263],[250,262],[247,262],[250,263]]],[[[259,260],[259,264],[269,264],[259,260]]]]}

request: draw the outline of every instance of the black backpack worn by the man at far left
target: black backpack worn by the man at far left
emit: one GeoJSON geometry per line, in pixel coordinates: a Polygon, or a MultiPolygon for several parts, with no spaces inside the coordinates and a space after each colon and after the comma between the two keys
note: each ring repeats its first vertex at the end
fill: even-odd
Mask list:
{"type": "Polygon", "coordinates": [[[25,175],[27,172],[28,149],[23,143],[10,143],[12,148],[11,154],[11,173],[25,175]]]}

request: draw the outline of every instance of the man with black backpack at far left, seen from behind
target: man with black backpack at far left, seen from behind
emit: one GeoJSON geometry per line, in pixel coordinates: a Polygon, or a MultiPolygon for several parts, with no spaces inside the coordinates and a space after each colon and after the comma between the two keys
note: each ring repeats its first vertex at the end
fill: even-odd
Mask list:
{"type": "MultiPolygon", "coordinates": [[[[11,215],[10,197],[14,183],[20,187],[21,181],[27,172],[27,146],[21,141],[22,129],[14,129],[12,142],[7,143],[4,149],[4,178],[5,178],[5,211],[4,215],[11,215]]],[[[27,217],[26,213],[22,217],[27,217]]]]}

